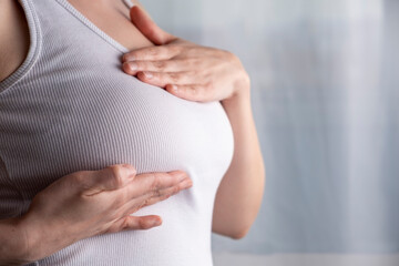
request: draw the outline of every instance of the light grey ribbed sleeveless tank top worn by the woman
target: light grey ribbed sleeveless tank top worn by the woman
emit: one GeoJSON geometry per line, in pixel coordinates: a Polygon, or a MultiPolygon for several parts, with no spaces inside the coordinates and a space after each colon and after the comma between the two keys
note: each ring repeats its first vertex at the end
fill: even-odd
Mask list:
{"type": "MultiPolygon", "coordinates": [[[[130,163],[193,187],[134,215],[163,224],[79,241],[32,265],[211,266],[214,200],[234,150],[219,102],[180,99],[121,70],[127,49],[66,0],[21,0],[30,49],[0,83],[0,218],[58,178],[130,163]]],[[[45,224],[43,224],[45,226],[45,224]]]]}

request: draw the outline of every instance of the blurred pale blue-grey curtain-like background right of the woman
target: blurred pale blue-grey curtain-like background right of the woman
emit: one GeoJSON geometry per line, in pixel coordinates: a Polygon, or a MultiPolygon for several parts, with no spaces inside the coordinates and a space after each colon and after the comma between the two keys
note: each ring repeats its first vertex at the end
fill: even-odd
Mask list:
{"type": "Polygon", "coordinates": [[[237,54],[266,165],[249,234],[215,266],[399,265],[399,1],[141,1],[166,31],[237,54]]]}

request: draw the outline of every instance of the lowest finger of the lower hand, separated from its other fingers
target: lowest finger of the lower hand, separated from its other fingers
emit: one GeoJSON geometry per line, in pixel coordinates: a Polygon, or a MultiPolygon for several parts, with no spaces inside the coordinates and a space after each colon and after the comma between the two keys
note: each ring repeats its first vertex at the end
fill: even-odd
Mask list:
{"type": "Polygon", "coordinates": [[[157,215],[146,216],[125,216],[114,222],[104,233],[116,233],[130,229],[150,229],[162,224],[162,218],[157,215]]]}

